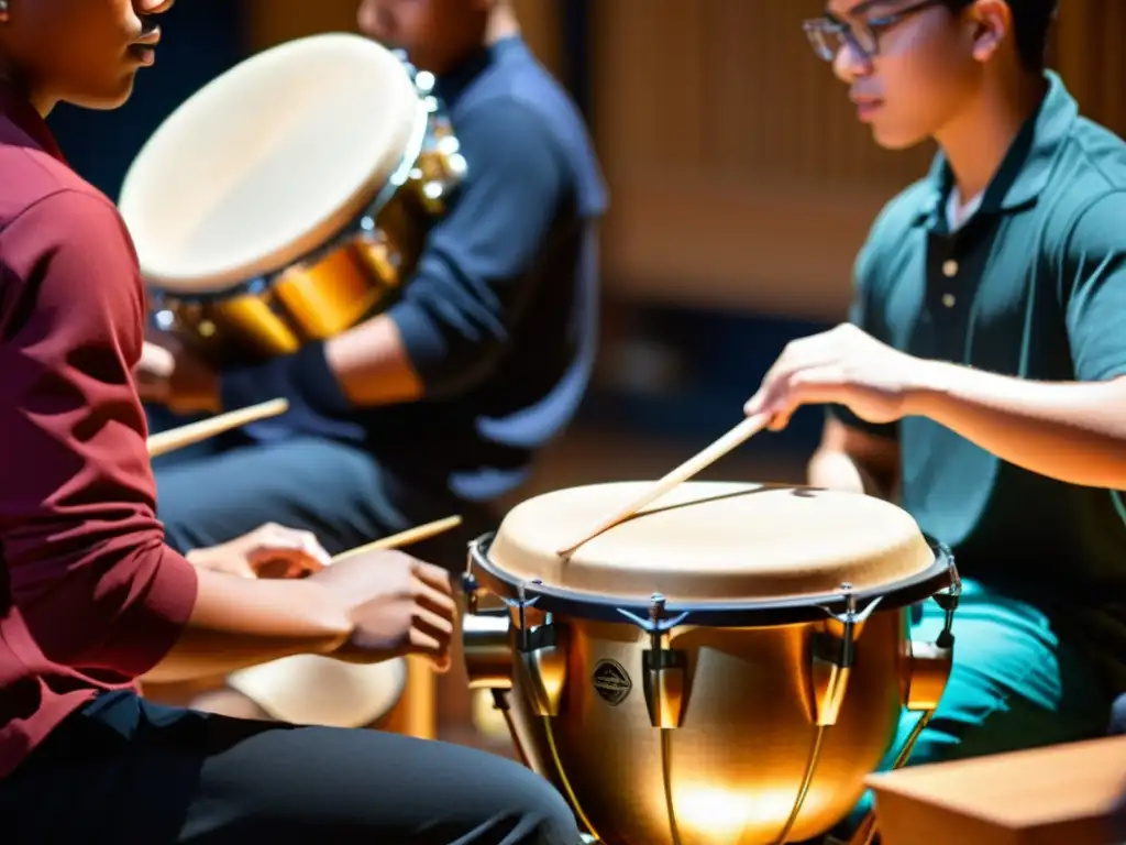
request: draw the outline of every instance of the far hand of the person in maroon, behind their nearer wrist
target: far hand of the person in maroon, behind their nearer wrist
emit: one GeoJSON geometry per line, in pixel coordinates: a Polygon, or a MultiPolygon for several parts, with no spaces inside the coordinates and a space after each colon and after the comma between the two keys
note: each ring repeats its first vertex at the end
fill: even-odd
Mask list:
{"type": "Polygon", "coordinates": [[[302,578],[331,562],[311,532],[276,523],[267,523],[222,545],[190,551],[187,559],[197,567],[240,578],[302,578]]]}

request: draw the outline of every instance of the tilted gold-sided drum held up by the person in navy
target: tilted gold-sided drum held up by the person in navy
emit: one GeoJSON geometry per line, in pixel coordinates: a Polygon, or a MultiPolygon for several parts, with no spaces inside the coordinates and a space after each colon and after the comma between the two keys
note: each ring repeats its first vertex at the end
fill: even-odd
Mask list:
{"type": "Polygon", "coordinates": [[[263,51],[188,98],[119,198],[158,328],[223,366],[394,302],[466,172],[434,84],[332,33],[263,51]]]}

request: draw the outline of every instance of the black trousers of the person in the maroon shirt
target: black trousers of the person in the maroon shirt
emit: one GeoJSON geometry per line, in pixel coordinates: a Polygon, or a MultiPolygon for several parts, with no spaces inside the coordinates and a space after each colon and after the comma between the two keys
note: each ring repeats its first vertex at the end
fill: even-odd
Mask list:
{"type": "Polygon", "coordinates": [[[0,780],[6,845],[577,845],[543,779],[393,733],[102,695],[0,780]]]}

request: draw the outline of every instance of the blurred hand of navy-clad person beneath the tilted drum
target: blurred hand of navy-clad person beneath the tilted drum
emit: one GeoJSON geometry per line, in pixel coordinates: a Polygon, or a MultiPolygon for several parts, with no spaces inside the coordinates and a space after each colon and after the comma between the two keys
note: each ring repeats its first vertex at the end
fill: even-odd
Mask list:
{"type": "Polygon", "coordinates": [[[163,404],[177,413],[220,410],[215,371],[171,336],[150,335],[135,375],[137,393],[145,402],[163,404]]]}

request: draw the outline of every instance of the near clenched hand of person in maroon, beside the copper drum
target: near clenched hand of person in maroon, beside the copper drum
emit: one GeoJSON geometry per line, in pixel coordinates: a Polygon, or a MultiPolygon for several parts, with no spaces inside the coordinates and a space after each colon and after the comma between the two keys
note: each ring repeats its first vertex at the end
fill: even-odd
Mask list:
{"type": "Polygon", "coordinates": [[[449,572],[397,551],[341,560],[310,577],[342,602],[355,625],[333,657],[378,662],[404,655],[449,668],[457,605],[449,572]]]}

